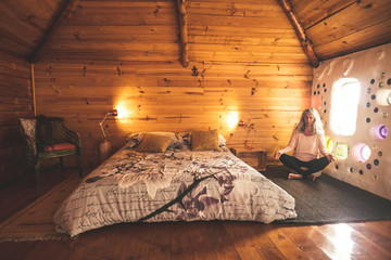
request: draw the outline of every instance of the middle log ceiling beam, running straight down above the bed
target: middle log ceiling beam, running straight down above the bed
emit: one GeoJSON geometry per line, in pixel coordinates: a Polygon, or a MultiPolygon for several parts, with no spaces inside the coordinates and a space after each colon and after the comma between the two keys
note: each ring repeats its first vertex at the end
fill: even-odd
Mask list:
{"type": "Polygon", "coordinates": [[[188,46],[188,31],[187,31],[187,13],[186,13],[186,0],[176,0],[179,30],[180,30],[180,62],[184,67],[189,65],[189,46],[188,46]]]}

